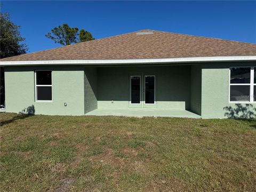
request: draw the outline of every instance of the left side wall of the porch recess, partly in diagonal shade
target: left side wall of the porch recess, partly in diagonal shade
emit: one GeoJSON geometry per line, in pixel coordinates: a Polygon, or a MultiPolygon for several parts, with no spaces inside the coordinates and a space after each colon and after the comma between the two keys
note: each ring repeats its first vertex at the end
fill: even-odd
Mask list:
{"type": "Polygon", "coordinates": [[[97,68],[86,67],[84,69],[84,113],[97,109],[97,68]]]}

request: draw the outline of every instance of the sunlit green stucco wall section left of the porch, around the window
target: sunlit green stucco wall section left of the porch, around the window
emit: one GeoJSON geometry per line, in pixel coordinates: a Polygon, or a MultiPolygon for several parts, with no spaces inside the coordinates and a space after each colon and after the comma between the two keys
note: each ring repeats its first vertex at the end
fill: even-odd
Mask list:
{"type": "Polygon", "coordinates": [[[35,114],[83,115],[84,67],[5,67],[5,106],[13,113],[33,107],[35,114]],[[35,102],[36,69],[52,70],[52,102],[35,102]]]}

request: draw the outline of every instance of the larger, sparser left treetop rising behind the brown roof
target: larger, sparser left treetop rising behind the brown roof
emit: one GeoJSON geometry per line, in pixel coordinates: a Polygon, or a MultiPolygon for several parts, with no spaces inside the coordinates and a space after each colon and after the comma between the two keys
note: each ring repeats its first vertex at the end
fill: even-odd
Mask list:
{"type": "Polygon", "coordinates": [[[45,36],[52,39],[55,43],[70,45],[72,43],[77,43],[77,31],[77,27],[71,28],[68,24],[64,23],[62,26],[54,27],[52,29],[52,34],[47,33],[45,36]]]}

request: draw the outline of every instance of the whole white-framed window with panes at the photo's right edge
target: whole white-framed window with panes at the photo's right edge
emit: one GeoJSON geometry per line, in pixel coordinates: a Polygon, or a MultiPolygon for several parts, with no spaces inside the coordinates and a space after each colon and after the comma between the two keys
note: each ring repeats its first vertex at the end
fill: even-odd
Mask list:
{"type": "Polygon", "coordinates": [[[256,67],[230,67],[229,102],[256,101],[256,76],[254,75],[254,69],[256,67]]]}

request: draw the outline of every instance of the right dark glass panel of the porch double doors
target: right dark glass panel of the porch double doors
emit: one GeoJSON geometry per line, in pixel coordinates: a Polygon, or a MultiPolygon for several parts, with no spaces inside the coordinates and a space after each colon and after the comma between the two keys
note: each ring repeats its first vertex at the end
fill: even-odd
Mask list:
{"type": "Polygon", "coordinates": [[[145,103],[155,103],[155,76],[145,76],[145,103]]]}

